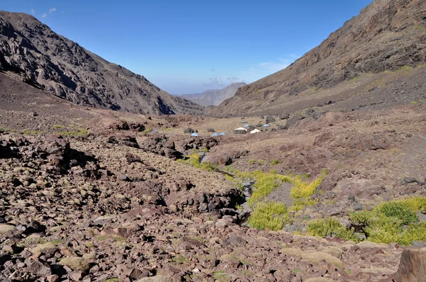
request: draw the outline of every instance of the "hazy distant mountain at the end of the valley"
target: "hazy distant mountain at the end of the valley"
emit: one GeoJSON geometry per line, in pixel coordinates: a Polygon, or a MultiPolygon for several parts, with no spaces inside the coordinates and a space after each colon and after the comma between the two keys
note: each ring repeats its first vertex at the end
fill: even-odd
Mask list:
{"type": "Polygon", "coordinates": [[[201,94],[184,94],[180,95],[180,97],[202,106],[219,106],[227,98],[233,97],[240,87],[246,85],[244,82],[235,82],[224,89],[209,89],[201,94]]]}

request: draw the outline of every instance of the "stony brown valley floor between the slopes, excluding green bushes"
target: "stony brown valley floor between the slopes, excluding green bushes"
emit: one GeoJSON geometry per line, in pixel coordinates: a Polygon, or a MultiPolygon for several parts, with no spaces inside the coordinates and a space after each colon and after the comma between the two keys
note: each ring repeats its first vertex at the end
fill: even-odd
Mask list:
{"type": "Polygon", "coordinates": [[[401,281],[401,254],[425,246],[308,232],[314,220],[350,226],[356,210],[426,196],[422,103],[242,120],[10,97],[0,126],[3,281],[401,281]],[[271,128],[232,135],[242,121],[271,128]],[[200,137],[183,133],[187,126],[200,137]],[[212,127],[228,135],[211,137],[212,127]],[[200,165],[185,157],[195,152],[200,165]],[[256,177],[241,193],[237,171],[308,174],[309,182],[324,168],[313,205],[293,211],[289,184],[266,196],[290,210],[280,230],[247,224],[253,211],[240,207],[256,177]]]}

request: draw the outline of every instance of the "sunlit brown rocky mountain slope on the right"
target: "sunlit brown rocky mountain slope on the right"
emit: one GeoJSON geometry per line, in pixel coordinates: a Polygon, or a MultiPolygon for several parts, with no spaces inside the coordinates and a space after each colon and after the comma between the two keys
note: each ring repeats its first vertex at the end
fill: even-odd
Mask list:
{"type": "MultiPolygon", "coordinates": [[[[359,16],[344,23],[342,28],[290,67],[241,88],[213,114],[276,112],[286,108],[290,102],[293,103],[290,110],[299,111],[327,99],[353,101],[351,106],[355,107],[360,106],[356,101],[358,98],[381,96],[378,101],[390,101],[395,94],[388,90],[381,93],[383,87],[395,88],[407,83],[398,79],[404,77],[410,67],[422,66],[426,62],[425,42],[425,1],[375,0],[359,16]],[[386,79],[386,74],[398,70],[397,81],[388,81],[388,84],[380,81],[382,77],[373,81],[366,79],[378,73],[386,79]],[[351,89],[356,95],[346,94],[345,91],[355,84],[363,87],[356,91],[351,89]],[[294,105],[300,101],[303,101],[302,106],[294,105]]],[[[419,83],[422,87],[420,92],[424,92],[422,79],[424,73],[420,77],[415,76],[410,85],[419,83]]],[[[337,103],[334,108],[347,107],[337,103]]]]}

